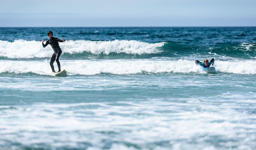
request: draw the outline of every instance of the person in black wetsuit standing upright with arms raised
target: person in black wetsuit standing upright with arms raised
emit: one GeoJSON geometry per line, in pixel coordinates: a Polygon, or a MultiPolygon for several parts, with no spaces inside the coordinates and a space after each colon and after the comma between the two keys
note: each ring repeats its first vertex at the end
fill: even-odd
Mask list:
{"type": "Polygon", "coordinates": [[[42,39],[42,47],[45,48],[48,44],[50,44],[52,46],[52,49],[53,49],[54,53],[53,53],[51,61],[50,61],[50,66],[52,68],[52,72],[55,73],[53,62],[56,60],[58,68],[59,68],[58,72],[60,72],[59,57],[60,57],[62,51],[59,47],[58,42],[65,42],[66,40],[64,38],[63,38],[63,40],[60,40],[56,37],[53,37],[53,32],[52,31],[48,32],[48,37],[49,37],[49,39],[46,41],[46,44],[44,44],[44,39],[42,39]]]}

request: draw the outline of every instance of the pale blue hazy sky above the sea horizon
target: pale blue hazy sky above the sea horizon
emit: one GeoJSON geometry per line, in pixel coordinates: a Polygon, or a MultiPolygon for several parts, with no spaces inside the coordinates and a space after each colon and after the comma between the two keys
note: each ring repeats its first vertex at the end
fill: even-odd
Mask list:
{"type": "Polygon", "coordinates": [[[0,27],[256,26],[255,0],[1,0],[0,27]]]}

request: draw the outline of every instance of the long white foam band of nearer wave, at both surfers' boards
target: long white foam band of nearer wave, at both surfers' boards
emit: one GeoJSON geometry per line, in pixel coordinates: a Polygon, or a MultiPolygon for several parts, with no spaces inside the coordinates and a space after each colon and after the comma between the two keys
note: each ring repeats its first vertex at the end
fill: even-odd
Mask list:
{"type": "MultiPolygon", "coordinates": [[[[134,73],[172,73],[172,72],[199,72],[201,67],[194,61],[178,60],[64,60],[60,61],[61,68],[66,69],[69,75],[94,75],[99,73],[134,74],[134,73]]],[[[51,75],[49,60],[46,61],[0,61],[0,72],[28,73],[51,75]]],[[[54,63],[57,70],[56,62],[54,63]]],[[[216,61],[218,72],[256,74],[256,62],[247,61],[216,61]]]]}

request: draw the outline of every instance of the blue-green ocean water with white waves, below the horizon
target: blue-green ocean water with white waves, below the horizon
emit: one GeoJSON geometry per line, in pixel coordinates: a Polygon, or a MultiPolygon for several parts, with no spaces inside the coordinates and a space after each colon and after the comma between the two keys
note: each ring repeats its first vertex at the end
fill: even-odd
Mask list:
{"type": "Polygon", "coordinates": [[[0,149],[256,149],[255,60],[255,27],[0,28],[0,149]]]}

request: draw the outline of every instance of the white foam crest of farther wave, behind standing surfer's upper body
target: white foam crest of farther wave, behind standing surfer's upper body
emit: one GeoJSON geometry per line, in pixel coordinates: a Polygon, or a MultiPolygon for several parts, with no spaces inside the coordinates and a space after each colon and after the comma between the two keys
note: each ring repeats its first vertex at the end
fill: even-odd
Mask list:
{"type": "MultiPolygon", "coordinates": [[[[157,47],[164,45],[160,43],[146,43],[135,40],[114,40],[114,41],[88,41],[88,40],[68,40],[59,43],[62,53],[82,53],[93,54],[126,53],[126,54],[151,54],[159,53],[157,47]]],[[[40,41],[15,40],[14,42],[0,40],[0,57],[8,58],[44,58],[51,57],[53,50],[50,45],[42,47],[40,41]]]]}

